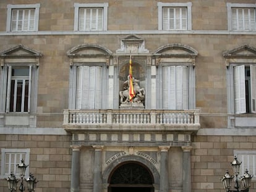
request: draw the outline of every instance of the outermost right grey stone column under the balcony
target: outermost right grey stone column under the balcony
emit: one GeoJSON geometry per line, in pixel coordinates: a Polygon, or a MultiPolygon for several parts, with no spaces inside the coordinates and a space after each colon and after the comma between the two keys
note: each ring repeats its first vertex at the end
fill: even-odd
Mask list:
{"type": "Polygon", "coordinates": [[[182,146],[183,162],[182,162],[182,175],[183,175],[183,191],[191,192],[191,154],[192,146],[182,146]]]}

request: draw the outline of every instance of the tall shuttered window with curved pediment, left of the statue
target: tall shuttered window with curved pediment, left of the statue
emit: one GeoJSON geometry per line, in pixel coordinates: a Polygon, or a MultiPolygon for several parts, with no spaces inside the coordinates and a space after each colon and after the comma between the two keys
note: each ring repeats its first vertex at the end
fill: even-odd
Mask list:
{"type": "Polygon", "coordinates": [[[111,54],[108,49],[93,44],[67,51],[70,59],[69,109],[106,109],[111,54]]]}

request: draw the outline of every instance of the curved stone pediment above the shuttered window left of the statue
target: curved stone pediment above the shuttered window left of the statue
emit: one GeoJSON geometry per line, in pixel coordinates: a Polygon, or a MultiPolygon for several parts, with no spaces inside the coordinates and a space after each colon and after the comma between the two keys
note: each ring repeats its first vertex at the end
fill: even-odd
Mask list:
{"type": "Polygon", "coordinates": [[[108,49],[94,44],[82,44],[67,51],[69,57],[108,56],[110,54],[112,52],[108,49]]]}

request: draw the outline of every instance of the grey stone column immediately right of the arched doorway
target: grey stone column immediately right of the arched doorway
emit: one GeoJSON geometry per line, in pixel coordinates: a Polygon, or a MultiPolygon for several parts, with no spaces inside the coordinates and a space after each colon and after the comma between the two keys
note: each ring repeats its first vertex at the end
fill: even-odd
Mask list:
{"type": "Polygon", "coordinates": [[[160,192],[169,191],[168,182],[168,150],[169,146],[159,146],[161,152],[160,161],[160,192]]]}

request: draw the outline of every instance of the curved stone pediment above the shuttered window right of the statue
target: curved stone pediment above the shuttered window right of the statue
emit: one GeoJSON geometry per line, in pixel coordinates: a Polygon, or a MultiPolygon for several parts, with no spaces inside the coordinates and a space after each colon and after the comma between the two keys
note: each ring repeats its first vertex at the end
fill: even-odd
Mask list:
{"type": "Polygon", "coordinates": [[[168,44],[166,46],[161,46],[158,48],[154,56],[156,57],[192,57],[195,58],[198,52],[190,48],[189,46],[185,46],[183,44],[168,44]]]}

